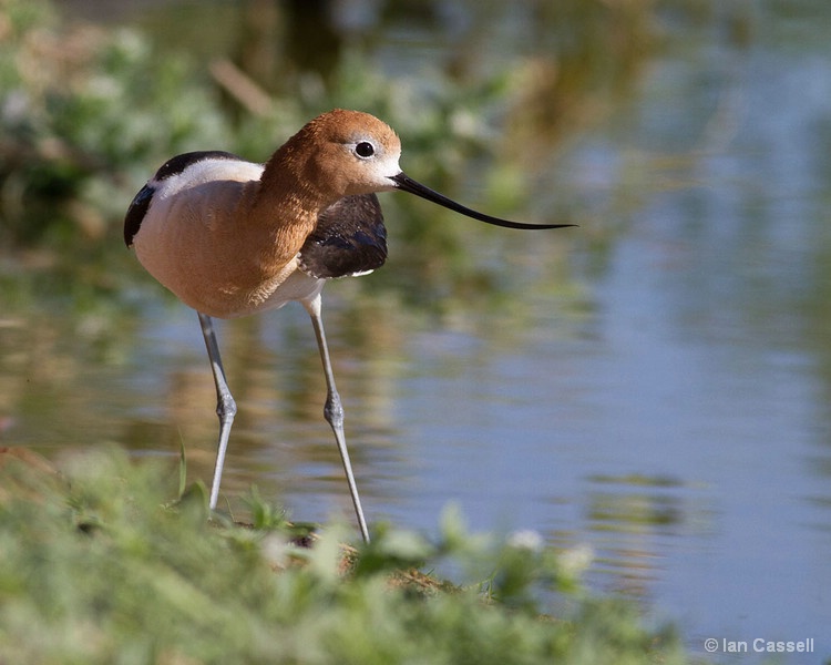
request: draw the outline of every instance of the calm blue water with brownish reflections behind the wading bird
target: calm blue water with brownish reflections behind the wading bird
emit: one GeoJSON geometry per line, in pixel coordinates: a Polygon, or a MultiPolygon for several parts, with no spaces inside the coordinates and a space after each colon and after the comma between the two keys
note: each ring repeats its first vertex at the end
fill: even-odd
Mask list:
{"type": "MultiPolygon", "coordinates": [[[[741,47],[669,22],[622,108],[544,161],[581,227],[532,239],[469,225],[465,252],[506,275],[502,299],[459,298],[435,317],[327,286],[370,523],[433,532],[456,502],[475,530],[591,546],[589,583],[643,598],[696,654],[707,637],[746,641],[741,663],[761,661],[760,637],[815,640],[788,663],[831,654],[823,7],[753,4],[741,47]]],[[[3,319],[0,418],[13,426],[0,440],[120,442],[172,464],[182,441],[207,479],[216,421],[196,317],[150,280],[131,298],[127,350],[91,349],[94,320],[3,319]]],[[[297,519],[349,515],[302,309],[219,335],[240,405],[224,491],[256,482],[297,519]]]]}

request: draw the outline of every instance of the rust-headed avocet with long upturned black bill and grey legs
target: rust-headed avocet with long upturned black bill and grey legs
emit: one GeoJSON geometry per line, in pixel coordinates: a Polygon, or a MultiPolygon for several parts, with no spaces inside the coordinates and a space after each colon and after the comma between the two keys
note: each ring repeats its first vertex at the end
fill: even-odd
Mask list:
{"type": "Polygon", "coordinates": [[[237,406],[223,368],[213,319],[230,319],[299,301],[311,318],[326,376],[324,417],[340,453],[358,528],[369,530],[343,433],[321,317],[328,279],[360,276],[387,258],[377,193],[401,191],[474,219],[517,229],[525,224],[468,208],[409,177],[401,141],[383,121],[335,109],[309,121],[265,164],[224,151],[165,162],[138,191],[124,217],[124,242],[141,265],[196,310],[216,387],[219,437],[209,510],[216,510],[237,406]]]}

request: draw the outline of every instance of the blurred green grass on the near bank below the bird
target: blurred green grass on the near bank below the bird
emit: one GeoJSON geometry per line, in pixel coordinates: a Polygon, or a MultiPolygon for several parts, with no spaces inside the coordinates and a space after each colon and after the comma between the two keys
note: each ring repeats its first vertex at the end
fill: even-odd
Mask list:
{"type": "Polygon", "coordinates": [[[553,552],[380,525],[311,548],[252,492],[254,525],[208,522],[202,484],[121,450],[51,472],[0,454],[0,662],[681,663],[671,631],[586,594],[553,552]],[[174,501],[171,501],[174,499],[174,501]],[[456,571],[451,584],[418,572],[456,571]]]}

